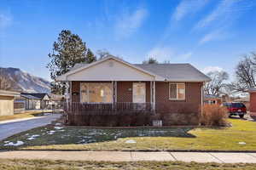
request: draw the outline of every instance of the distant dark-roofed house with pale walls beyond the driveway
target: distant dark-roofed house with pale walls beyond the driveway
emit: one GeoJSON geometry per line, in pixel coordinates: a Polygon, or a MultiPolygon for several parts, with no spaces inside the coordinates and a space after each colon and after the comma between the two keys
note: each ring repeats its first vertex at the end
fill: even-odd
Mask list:
{"type": "Polygon", "coordinates": [[[48,94],[21,93],[21,97],[25,99],[26,110],[45,109],[49,105],[48,94]]]}

